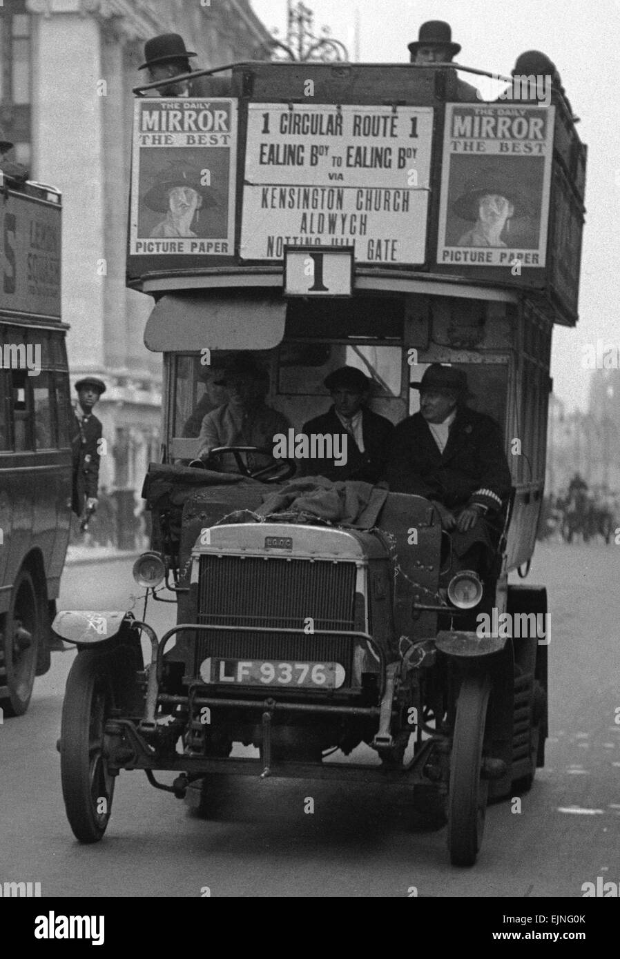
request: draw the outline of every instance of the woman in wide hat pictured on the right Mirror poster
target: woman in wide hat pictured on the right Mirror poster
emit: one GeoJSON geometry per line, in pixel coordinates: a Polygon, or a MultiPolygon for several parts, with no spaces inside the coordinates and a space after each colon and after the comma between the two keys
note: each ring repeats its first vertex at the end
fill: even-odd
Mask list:
{"type": "Polygon", "coordinates": [[[526,202],[508,184],[489,178],[480,185],[468,183],[452,209],[462,220],[475,221],[457,246],[507,246],[502,234],[510,230],[513,217],[525,216],[526,202]]]}

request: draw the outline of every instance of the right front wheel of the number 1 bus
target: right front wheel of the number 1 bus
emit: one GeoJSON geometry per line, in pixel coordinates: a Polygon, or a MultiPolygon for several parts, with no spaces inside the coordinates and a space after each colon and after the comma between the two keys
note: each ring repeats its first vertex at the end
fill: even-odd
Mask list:
{"type": "Polygon", "coordinates": [[[481,779],[489,677],[465,676],[457,701],[448,794],[448,849],[453,866],[473,866],[482,845],[489,784],[481,779]]]}

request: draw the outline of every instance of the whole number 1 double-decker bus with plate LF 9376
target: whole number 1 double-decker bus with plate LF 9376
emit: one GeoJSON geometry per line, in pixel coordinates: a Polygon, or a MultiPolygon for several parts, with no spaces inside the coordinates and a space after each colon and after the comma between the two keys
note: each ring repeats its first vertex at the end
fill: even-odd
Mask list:
{"type": "Polygon", "coordinates": [[[60,762],[83,842],[103,836],[121,769],[199,806],[220,774],[361,778],[410,787],[472,865],[489,797],[531,786],[547,598],[509,573],[535,547],[551,338],[577,321],[584,222],[585,148],[545,82],[544,99],[462,102],[446,64],[252,62],[227,96],[136,102],[128,283],[155,300],[145,342],[165,388],[153,550],[134,576],[150,600],[174,589],[178,620],[161,637],[124,611],[55,620],[80,649],[60,762]],[[275,436],[271,467],[257,447],[195,459],[220,409],[205,366],[239,353],[292,424],[288,461],[275,436]],[[510,466],[503,498],[479,490],[497,501],[486,573],[463,567],[426,495],[344,482],[330,513],[321,478],[305,499],[286,484],[331,373],[362,370],[397,424],[434,363],[466,374],[510,466]],[[367,747],[374,762],[338,761],[367,747]]]}

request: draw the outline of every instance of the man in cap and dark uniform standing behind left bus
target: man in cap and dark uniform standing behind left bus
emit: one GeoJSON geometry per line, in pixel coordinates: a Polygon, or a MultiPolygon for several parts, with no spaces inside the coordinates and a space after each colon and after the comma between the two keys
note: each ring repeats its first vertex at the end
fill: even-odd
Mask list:
{"type": "Polygon", "coordinates": [[[93,407],[106,384],[95,376],[85,376],[75,385],[78,404],[73,408],[71,452],[73,456],[73,485],[71,508],[77,516],[86,518],[97,508],[99,484],[99,440],[103,427],[93,413],[93,407]]]}

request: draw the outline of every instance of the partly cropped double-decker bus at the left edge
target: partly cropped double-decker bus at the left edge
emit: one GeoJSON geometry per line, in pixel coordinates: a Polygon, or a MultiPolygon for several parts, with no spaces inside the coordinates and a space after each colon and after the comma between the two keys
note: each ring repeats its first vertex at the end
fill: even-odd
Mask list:
{"type": "Polygon", "coordinates": [[[0,715],[50,667],[71,515],[69,372],[60,318],[60,193],[0,192],[0,715]]]}

